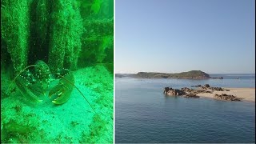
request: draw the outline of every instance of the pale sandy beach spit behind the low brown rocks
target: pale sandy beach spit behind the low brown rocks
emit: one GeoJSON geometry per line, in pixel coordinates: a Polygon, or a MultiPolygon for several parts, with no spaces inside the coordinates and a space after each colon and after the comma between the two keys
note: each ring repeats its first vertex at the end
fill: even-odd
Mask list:
{"type": "Polygon", "coordinates": [[[244,102],[255,102],[255,88],[223,88],[225,91],[214,90],[212,94],[197,94],[200,97],[214,98],[214,94],[232,94],[238,98],[242,98],[244,102]],[[226,91],[230,90],[230,91],[226,91]]]}

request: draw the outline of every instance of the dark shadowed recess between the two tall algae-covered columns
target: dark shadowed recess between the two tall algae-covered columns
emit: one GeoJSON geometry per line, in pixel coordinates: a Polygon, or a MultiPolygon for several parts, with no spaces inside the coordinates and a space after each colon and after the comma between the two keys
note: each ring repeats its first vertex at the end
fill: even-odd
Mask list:
{"type": "Polygon", "coordinates": [[[38,59],[48,61],[52,0],[34,0],[30,4],[30,50],[28,65],[38,59]]]}

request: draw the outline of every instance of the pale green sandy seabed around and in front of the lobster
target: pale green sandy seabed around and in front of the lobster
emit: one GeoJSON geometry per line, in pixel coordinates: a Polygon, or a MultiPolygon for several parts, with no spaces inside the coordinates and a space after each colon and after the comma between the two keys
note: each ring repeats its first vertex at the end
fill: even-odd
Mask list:
{"type": "MultiPolygon", "coordinates": [[[[52,99],[30,105],[18,90],[1,98],[1,143],[112,143],[114,82],[104,66],[73,72],[75,88],[70,99],[55,105],[52,99]],[[92,106],[92,107],[90,107],[92,106]],[[95,110],[92,110],[92,108],[95,110]]],[[[2,77],[2,75],[1,75],[2,77]]],[[[9,82],[1,78],[2,90],[9,82]]],[[[52,89],[58,81],[50,83],[52,89]]]]}

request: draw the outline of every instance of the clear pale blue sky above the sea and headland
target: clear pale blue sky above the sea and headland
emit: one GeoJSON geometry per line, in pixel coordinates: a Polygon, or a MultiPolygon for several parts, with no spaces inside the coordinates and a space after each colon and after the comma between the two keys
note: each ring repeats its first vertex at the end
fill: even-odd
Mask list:
{"type": "Polygon", "coordinates": [[[255,73],[255,0],[115,0],[115,72],[255,73]]]}

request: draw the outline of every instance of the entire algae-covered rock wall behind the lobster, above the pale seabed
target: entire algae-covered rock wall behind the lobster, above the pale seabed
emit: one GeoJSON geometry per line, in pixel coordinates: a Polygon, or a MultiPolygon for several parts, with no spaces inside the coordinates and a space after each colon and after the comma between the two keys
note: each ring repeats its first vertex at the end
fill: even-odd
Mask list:
{"type": "Polygon", "coordinates": [[[5,49],[1,50],[9,53],[10,58],[1,58],[1,66],[11,61],[9,66],[14,67],[17,75],[27,65],[42,59],[52,72],[62,68],[76,70],[78,63],[79,67],[101,63],[113,73],[114,18],[94,18],[88,11],[83,15],[86,19],[82,19],[80,14],[95,6],[100,14],[104,3],[2,0],[1,41],[5,49]]]}

